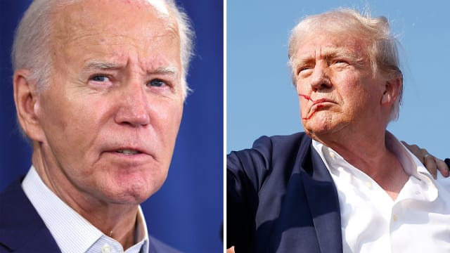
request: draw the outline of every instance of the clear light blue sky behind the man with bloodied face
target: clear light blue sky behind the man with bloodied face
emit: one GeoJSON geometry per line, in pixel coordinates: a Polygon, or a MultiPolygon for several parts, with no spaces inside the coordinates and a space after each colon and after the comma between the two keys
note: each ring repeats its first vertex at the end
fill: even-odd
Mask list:
{"type": "Polygon", "coordinates": [[[306,15],[339,7],[384,15],[401,43],[404,96],[388,129],[437,157],[447,148],[450,80],[449,4],[444,1],[227,1],[226,152],[250,148],[262,135],[303,131],[290,82],[290,29],[306,15]]]}

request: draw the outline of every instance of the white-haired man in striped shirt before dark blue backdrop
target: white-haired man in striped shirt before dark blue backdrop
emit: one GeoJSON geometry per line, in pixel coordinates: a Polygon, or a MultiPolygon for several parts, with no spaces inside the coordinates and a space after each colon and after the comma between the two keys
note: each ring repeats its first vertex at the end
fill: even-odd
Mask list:
{"type": "Polygon", "coordinates": [[[0,194],[0,252],[176,252],[140,203],[167,177],[192,30],[172,0],[35,0],[13,44],[32,167],[0,194]]]}

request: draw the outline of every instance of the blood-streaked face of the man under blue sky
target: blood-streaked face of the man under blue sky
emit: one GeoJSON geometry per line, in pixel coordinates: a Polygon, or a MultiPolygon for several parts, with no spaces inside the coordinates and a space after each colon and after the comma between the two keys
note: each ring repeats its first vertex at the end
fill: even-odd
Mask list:
{"type": "Polygon", "coordinates": [[[302,41],[294,67],[305,131],[318,136],[371,127],[378,120],[384,81],[373,77],[364,41],[323,31],[302,41]]]}

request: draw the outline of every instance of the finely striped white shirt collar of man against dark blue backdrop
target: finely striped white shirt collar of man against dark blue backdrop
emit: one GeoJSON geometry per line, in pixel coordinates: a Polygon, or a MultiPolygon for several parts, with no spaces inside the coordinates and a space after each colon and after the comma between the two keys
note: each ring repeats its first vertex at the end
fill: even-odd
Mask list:
{"type": "MultiPolygon", "coordinates": [[[[22,182],[23,190],[39,216],[56,240],[63,253],[115,253],[124,252],[120,242],[103,234],[89,221],[60,200],[41,180],[36,169],[31,167],[22,182]]],[[[136,244],[126,253],[148,253],[148,232],[146,220],[139,207],[136,244]]]]}

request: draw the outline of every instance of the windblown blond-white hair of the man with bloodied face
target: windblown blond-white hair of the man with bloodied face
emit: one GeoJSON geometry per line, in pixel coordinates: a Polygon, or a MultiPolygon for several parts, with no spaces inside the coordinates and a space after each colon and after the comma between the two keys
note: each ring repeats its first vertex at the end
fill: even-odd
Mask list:
{"type": "Polygon", "coordinates": [[[387,18],[371,18],[369,13],[364,15],[354,9],[342,8],[335,11],[310,15],[300,21],[291,31],[289,39],[289,65],[295,76],[294,60],[300,41],[311,34],[317,27],[325,27],[330,32],[354,34],[366,39],[366,56],[371,62],[372,73],[382,72],[388,78],[399,77],[401,86],[399,96],[390,112],[389,121],[399,117],[401,96],[403,93],[403,74],[401,74],[397,44],[399,41],[390,32],[387,18]]]}

